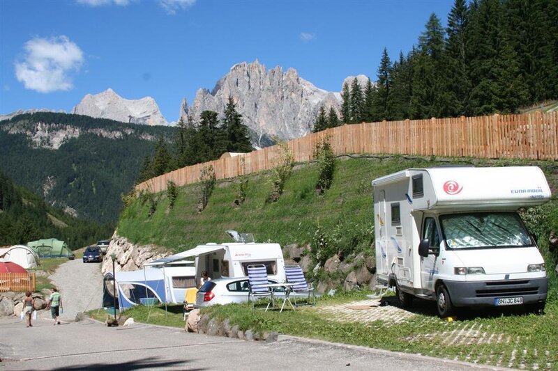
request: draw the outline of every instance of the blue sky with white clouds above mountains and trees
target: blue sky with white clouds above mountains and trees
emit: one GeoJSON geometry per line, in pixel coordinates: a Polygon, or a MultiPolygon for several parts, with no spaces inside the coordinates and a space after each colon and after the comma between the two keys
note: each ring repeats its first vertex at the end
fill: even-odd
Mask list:
{"type": "Polygon", "coordinates": [[[439,1],[0,1],[0,113],[70,111],[107,88],[151,96],[168,121],[181,100],[211,90],[232,65],[258,59],[295,68],[318,88],[340,91],[349,75],[376,79],[416,44],[439,1]]]}

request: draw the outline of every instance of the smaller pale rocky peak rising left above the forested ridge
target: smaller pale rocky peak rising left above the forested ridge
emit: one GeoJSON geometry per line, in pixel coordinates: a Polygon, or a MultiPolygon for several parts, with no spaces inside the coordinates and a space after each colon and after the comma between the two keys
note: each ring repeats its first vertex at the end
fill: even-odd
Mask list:
{"type": "Polygon", "coordinates": [[[152,97],[126,100],[111,88],[96,95],[85,95],[80,104],[73,108],[72,113],[95,118],[110,118],[123,123],[168,125],[152,97]]]}

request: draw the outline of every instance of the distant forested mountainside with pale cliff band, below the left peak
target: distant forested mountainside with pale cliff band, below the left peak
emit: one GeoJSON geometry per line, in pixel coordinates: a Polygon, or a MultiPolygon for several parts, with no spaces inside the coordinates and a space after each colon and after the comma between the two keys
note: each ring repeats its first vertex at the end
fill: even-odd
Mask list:
{"type": "Polygon", "coordinates": [[[175,132],[66,113],[15,116],[0,123],[0,168],[54,207],[114,223],[142,161],[175,132]]]}

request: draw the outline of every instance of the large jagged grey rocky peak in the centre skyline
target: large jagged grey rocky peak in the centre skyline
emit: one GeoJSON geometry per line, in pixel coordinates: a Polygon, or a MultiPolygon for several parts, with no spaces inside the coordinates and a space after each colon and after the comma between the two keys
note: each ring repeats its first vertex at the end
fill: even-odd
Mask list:
{"type": "Polygon", "coordinates": [[[195,122],[202,111],[223,113],[229,95],[236,102],[236,109],[259,139],[262,136],[294,139],[312,131],[312,125],[324,105],[338,108],[340,94],[331,93],[299,77],[294,68],[283,72],[280,66],[267,70],[265,65],[237,63],[229,73],[219,79],[211,92],[197,90],[191,106],[186,100],[181,105],[181,118],[190,115],[195,122]]]}

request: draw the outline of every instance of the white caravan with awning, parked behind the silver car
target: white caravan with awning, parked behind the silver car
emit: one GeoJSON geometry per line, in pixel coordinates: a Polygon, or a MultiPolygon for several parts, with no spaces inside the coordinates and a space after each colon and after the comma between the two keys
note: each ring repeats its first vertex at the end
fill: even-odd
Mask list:
{"type": "Polygon", "coordinates": [[[188,251],[146,263],[146,266],[176,264],[180,260],[195,258],[195,279],[199,283],[203,271],[212,279],[248,277],[248,265],[262,264],[266,266],[270,279],[285,281],[285,259],[279,244],[260,244],[253,242],[254,237],[250,233],[227,232],[236,242],[198,245],[188,251]]]}

